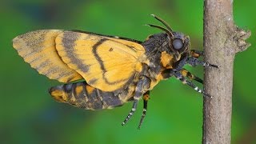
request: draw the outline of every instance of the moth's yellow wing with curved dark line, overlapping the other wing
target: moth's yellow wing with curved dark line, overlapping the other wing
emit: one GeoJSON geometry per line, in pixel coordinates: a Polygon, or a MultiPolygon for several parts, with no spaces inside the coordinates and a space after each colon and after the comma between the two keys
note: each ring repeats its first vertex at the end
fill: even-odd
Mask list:
{"type": "Polygon", "coordinates": [[[56,38],[63,62],[76,70],[90,86],[114,91],[142,70],[139,62],[145,49],[136,42],[97,34],[65,31],[56,38]]]}

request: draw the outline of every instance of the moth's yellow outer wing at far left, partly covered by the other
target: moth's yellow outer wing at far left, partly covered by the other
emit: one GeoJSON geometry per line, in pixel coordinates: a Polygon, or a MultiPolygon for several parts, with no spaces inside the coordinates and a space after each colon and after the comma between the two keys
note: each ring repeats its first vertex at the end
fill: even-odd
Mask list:
{"type": "Polygon", "coordinates": [[[59,82],[72,82],[82,79],[75,70],[62,62],[55,48],[55,38],[63,30],[36,30],[13,39],[14,49],[25,62],[40,74],[59,82]]]}

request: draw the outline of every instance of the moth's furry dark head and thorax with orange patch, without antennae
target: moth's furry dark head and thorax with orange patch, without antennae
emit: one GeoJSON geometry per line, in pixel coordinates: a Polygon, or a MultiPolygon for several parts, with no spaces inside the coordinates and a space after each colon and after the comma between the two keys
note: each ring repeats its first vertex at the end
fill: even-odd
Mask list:
{"type": "Polygon", "coordinates": [[[151,79],[150,89],[157,85],[159,81],[165,79],[162,76],[164,70],[174,69],[178,62],[189,54],[190,38],[179,32],[173,32],[173,34],[173,38],[165,33],[150,35],[142,43],[149,61],[147,76],[151,79]],[[174,43],[174,40],[180,41],[179,49],[175,49],[177,43],[174,43]]]}

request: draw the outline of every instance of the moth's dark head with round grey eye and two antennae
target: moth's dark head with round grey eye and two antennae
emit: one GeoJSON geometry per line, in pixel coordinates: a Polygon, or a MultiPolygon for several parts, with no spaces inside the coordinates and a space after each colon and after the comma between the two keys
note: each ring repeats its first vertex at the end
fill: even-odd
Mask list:
{"type": "Polygon", "coordinates": [[[163,21],[161,18],[158,18],[158,16],[151,14],[154,18],[156,18],[159,22],[162,22],[166,28],[162,26],[156,26],[156,25],[148,25],[151,27],[158,28],[160,30],[163,30],[167,34],[166,44],[168,51],[174,55],[174,58],[178,61],[182,54],[186,54],[190,50],[190,38],[189,36],[182,34],[180,32],[174,32],[171,30],[170,26],[163,21]]]}

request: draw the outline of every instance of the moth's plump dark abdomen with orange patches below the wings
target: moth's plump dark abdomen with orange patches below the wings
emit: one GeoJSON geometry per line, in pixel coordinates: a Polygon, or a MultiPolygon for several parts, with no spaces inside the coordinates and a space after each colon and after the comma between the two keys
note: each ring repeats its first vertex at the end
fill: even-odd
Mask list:
{"type": "Polygon", "coordinates": [[[113,92],[98,90],[86,82],[54,86],[50,88],[49,93],[58,102],[88,110],[110,109],[123,104],[113,92]]]}

